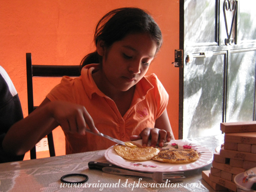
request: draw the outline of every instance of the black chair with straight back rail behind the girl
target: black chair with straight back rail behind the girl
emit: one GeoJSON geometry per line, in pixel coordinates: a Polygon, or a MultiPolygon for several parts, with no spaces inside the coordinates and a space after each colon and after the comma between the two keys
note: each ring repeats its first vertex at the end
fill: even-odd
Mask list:
{"type": "MultiPolygon", "coordinates": [[[[49,66],[32,65],[31,53],[26,53],[26,75],[27,75],[27,105],[28,114],[33,112],[37,106],[34,106],[33,99],[33,77],[78,77],[80,76],[80,66],[49,66]]],[[[47,135],[50,156],[55,156],[54,142],[52,132],[47,135]]],[[[30,159],[37,158],[36,146],[30,150],[30,159]]]]}

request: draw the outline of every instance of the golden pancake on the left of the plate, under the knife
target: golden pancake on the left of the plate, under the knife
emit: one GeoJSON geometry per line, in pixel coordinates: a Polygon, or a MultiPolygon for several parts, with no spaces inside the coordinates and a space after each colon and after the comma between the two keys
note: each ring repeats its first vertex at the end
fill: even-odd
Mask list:
{"type": "Polygon", "coordinates": [[[135,144],[137,147],[128,147],[124,145],[114,145],[114,149],[118,155],[123,158],[132,160],[132,161],[147,161],[150,160],[153,156],[157,155],[160,151],[158,148],[153,147],[144,147],[139,144],[135,144]]]}

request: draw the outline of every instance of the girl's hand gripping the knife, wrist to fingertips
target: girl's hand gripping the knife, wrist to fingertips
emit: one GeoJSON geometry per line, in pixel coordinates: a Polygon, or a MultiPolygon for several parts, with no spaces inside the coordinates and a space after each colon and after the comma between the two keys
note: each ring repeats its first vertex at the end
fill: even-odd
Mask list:
{"type": "Polygon", "coordinates": [[[63,101],[53,101],[49,104],[51,117],[57,121],[64,132],[85,135],[87,124],[93,133],[99,133],[84,106],[63,101]]]}

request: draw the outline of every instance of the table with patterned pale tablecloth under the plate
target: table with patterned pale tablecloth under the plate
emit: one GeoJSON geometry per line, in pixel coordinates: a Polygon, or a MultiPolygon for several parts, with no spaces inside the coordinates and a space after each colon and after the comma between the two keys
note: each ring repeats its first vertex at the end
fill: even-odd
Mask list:
{"type": "MultiPolygon", "coordinates": [[[[216,135],[183,141],[198,143],[214,152],[214,149],[221,145],[223,140],[223,135],[216,135]]],[[[0,164],[0,191],[214,191],[201,176],[202,171],[210,170],[211,165],[186,171],[184,173],[186,178],[182,182],[176,183],[176,187],[174,184],[163,187],[163,185],[157,185],[151,178],[145,177],[140,183],[150,183],[151,187],[145,187],[145,185],[133,187],[137,185],[140,177],[113,175],[88,169],[90,161],[107,163],[104,153],[105,150],[99,150],[0,164]],[[85,183],[80,187],[78,185],[64,187],[60,177],[70,173],[88,175],[89,180],[86,182],[86,187],[85,183]],[[130,187],[129,183],[132,183],[130,187]],[[178,187],[177,184],[179,186],[187,184],[188,187],[178,187]],[[195,184],[198,187],[195,187],[195,184]]]]}

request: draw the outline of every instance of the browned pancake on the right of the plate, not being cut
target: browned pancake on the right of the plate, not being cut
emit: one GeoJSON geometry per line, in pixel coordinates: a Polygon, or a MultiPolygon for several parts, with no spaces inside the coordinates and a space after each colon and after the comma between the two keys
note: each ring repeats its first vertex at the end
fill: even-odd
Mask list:
{"type": "Polygon", "coordinates": [[[198,153],[194,149],[161,149],[158,155],[152,160],[171,164],[181,164],[195,162],[199,158],[198,153]]]}

